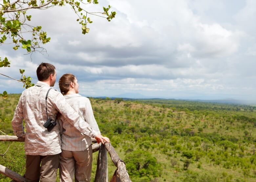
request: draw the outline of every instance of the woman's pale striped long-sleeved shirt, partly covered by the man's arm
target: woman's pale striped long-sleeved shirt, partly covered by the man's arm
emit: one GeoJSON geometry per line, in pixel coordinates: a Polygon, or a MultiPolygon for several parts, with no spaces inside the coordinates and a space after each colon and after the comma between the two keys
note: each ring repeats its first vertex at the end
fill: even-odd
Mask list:
{"type": "MultiPolygon", "coordinates": [[[[64,96],[67,103],[79,114],[81,118],[84,118],[84,122],[87,122],[93,130],[100,134],[99,127],[93,115],[93,109],[91,102],[88,98],[79,94],[68,94],[64,96]]],[[[83,151],[88,149],[92,144],[92,140],[87,135],[83,135],[78,131],[70,122],[68,122],[64,116],[58,118],[60,125],[62,125],[62,150],[68,151],[83,151]]]]}

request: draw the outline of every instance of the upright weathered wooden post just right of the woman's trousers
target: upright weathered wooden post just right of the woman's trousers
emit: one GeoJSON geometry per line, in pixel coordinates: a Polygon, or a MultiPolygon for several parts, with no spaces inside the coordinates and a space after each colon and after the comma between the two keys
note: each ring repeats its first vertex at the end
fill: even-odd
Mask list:
{"type": "Polygon", "coordinates": [[[108,182],[108,158],[105,146],[100,143],[94,182],[108,182]]]}

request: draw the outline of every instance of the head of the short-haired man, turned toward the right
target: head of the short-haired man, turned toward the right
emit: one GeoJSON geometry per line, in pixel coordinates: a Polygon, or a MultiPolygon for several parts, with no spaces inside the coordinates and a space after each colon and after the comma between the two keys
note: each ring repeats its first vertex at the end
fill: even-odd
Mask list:
{"type": "Polygon", "coordinates": [[[57,74],[55,67],[52,64],[41,63],[36,69],[36,75],[39,81],[48,81],[50,86],[54,86],[57,74]]]}

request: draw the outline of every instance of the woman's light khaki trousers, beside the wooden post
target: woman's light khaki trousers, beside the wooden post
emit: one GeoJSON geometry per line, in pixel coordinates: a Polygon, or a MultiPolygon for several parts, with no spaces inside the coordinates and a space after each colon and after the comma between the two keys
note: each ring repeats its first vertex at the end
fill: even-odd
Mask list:
{"type": "Polygon", "coordinates": [[[92,145],[84,151],[62,150],[59,161],[61,182],[90,182],[92,172],[92,145]]]}

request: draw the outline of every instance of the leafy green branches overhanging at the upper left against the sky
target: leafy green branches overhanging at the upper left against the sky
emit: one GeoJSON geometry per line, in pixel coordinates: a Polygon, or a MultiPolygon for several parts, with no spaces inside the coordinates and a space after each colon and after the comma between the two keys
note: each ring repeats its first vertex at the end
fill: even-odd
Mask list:
{"type": "MultiPolygon", "coordinates": [[[[98,4],[97,0],[17,0],[11,2],[10,0],[3,0],[0,4],[0,45],[12,44],[13,49],[17,50],[20,47],[26,49],[28,54],[35,51],[45,51],[41,45],[50,42],[51,38],[47,36],[47,32],[42,30],[41,26],[32,25],[30,21],[32,15],[29,15],[31,9],[43,10],[53,8],[55,6],[71,6],[77,15],[77,20],[81,25],[82,34],[89,33],[88,24],[93,23],[91,20],[92,16],[100,16],[106,18],[107,21],[111,21],[116,16],[116,12],[110,12],[110,5],[105,8],[103,7],[102,12],[89,12],[85,9],[88,4],[98,4]],[[30,38],[28,38],[30,37],[30,38]]],[[[0,67],[10,67],[10,61],[7,57],[1,60],[0,67]]],[[[25,70],[20,69],[22,78],[20,80],[14,79],[19,82],[23,82],[23,87],[33,86],[31,83],[32,78],[23,75],[25,70]]],[[[1,74],[3,75],[3,74],[1,74]]],[[[10,76],[3,75],[11,78],[10,76]]],[[[11,78],[13,79],[13,78],[11,78]]],[[[3,96],[1,96],[3,97],[3,96]]],[[[6,98],[3,97],[3,98],[6,98]]]]}

